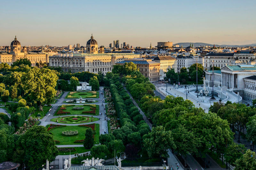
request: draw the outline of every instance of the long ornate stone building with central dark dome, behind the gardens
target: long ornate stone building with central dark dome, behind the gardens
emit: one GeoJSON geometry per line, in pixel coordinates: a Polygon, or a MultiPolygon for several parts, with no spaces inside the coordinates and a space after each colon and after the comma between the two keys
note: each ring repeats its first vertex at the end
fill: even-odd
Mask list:
{"type": "Polygon", "coordinates": [[[49,57],[49,66],[61,67],[63,71],[89,71],[106,74],[113,69],[113,65],[125,59],[138,58],[140,55],[132,53],[104,53],[104,47],[98,48],[97,41],[91,36],[86,42],[86,53],[57,54],[49,57]]]}

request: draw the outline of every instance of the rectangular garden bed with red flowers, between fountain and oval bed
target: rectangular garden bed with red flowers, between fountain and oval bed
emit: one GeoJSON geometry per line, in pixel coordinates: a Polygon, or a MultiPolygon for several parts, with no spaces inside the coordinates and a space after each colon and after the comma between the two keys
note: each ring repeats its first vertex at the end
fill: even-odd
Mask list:
{"type": "Polygon", "coordinates": [[[62,105],[56,110],[54,116],[59,116],[59,115],[82,115],[82,114],[83,115],[99,115],[99,105],[95,105],[95,104],[62,105]],[[61,110],[60,109],[60,108],[63,108],[63,107],[65,107],[66,110],[61,110]],[[79,109],[76,109],[76,108],[79,108],[79,109]]]}

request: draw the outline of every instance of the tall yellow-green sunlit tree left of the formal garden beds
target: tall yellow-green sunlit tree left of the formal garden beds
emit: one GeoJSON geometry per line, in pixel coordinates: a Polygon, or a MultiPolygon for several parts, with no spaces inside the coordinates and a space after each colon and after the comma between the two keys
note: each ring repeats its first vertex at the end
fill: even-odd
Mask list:
{"type": "Polygon", "coordinates": [[[57,80],[55,70],[33,67],[22,78],[23,89],[25,94],[30,94],[30,98],[37,101],[39,109],[42,110],[42,105],[54,101],[57,80]]]}

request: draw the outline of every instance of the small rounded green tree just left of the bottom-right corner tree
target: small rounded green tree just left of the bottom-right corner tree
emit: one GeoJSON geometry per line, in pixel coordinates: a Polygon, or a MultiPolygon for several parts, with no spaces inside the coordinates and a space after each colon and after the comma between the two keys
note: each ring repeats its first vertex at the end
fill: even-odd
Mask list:
{"type": "Polygon", "coordinates": [[[245,151],[246,148],[243,144],[236,144],[235,142],[232,142],[232,144],[228,145],[226,148],[224,158],[226,162],[234,166],[236,159],[241,158],[245,151]]]}

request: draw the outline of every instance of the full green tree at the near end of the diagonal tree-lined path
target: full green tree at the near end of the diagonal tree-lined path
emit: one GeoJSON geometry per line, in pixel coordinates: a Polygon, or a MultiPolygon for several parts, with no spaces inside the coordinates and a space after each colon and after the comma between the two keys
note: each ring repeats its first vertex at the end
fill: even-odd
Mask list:
{"type": "Polygon", "coordinates": [[[148,135],[144,135],[143,144],[150,158],[156,155],[168,158],[167,149],[176,149],[172,132],[165,131],[163,126],[152,128],[152,132],[148,133],[148,135]]]}

